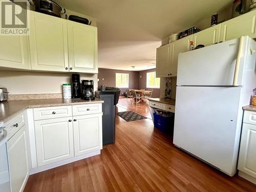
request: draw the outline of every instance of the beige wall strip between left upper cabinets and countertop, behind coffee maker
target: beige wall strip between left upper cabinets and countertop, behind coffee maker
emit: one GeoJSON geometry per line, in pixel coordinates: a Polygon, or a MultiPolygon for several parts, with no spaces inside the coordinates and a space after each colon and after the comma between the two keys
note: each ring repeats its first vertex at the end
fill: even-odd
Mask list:
{"type": "MultiPolygon", "coordinates": [[[[0,70],[0,87],[7,88],[10,95],[62,93],[61,85],[71,82],[71,74],[0,70]]],[[[80,74],[80,79],[94,80],[94,90],[98,89],[97,74],[80,74]]]]}

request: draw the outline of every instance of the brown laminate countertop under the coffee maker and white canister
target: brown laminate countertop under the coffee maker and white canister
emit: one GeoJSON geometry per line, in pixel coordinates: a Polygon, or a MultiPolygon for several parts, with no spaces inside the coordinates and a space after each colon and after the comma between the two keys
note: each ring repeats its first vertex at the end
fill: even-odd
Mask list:
{"type": "Polygon", "coordinates": [[[95,98],[92,101],[82,99],[29,99],[0,102],[0,122],[7,122],[16,114],[29,108],[44,108],[47,106],[65,106],[76,104],[103,103],[95,98]]]}

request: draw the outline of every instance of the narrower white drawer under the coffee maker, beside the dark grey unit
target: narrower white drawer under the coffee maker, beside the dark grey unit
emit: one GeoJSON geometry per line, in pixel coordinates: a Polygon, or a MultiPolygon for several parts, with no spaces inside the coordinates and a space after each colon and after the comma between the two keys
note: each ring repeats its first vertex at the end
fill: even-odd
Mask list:
{"type": "Polygon", "coordinates": [[[73,110],[73,116],[101,113],[102,104],[96,103],[96,104],[73,105],[72,110],[73,110]]]}

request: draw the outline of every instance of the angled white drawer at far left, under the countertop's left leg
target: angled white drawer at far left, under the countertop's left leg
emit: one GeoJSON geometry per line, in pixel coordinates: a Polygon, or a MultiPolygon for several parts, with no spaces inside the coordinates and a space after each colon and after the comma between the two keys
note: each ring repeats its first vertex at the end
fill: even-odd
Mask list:
{"type": "Polygon", "coordinates": [[[6,123],[8,139],[10,139],[23,125],[25,125],[25,118],[26,112],[24,111],[6,123]]]}

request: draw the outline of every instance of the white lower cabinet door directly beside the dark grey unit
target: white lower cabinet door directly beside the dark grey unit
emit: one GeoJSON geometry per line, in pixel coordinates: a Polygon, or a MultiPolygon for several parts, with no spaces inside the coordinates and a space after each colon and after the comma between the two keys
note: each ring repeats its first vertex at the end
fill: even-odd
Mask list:
{"type": "Polygon", "coordinates": [[[102,114],[73,117],[75,156],[102,148],[102,114]]]}

